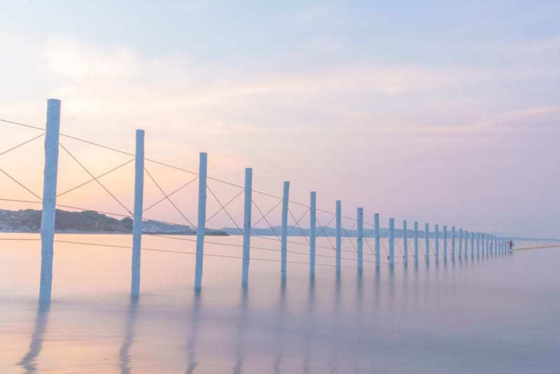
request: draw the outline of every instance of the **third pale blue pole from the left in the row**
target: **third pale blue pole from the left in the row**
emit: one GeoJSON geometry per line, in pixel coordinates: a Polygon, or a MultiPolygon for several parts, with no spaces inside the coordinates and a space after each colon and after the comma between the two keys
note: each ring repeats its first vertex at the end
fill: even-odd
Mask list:
{"type": "Polygon", "coordinates": [[[204,233],[206,226],[206,186],[208,171],[208,155],[201,152],[198,170],[198,221],[197,221],[197,254],[195,265],[195,291],[202,289],[202,265],[204,262],[204,233]]]}

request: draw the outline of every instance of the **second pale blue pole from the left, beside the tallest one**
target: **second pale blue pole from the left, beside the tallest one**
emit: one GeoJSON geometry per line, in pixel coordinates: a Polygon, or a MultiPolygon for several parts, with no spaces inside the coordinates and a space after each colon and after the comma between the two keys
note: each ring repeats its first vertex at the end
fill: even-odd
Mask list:
{"type": "Polygon", "coordinates": [[[134,158],[134,220],[132,221],[132,283],[130,297],[140,296],[140,256],[142,245],[142,211],[144,209],[144,130],[136,130],[134,158]]]}

